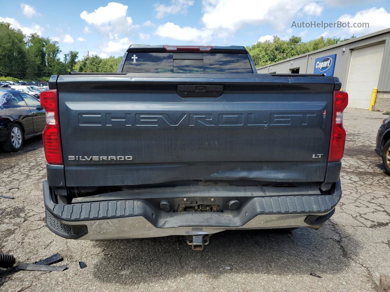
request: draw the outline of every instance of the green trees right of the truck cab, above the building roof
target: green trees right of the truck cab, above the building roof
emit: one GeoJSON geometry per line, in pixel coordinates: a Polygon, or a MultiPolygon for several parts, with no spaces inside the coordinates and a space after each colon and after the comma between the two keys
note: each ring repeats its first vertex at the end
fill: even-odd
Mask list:
{"type": "MultiPolygon", "coordinates": [[[[349,39],[354,39],[353,35],[349,39]]],[[[302,42],[301,37],[292,36],[289,40],[282,40],[274,35],[273,40],[257,42],[252,46],[246,47],[256,67],[262,67],[271,63],[279,62],[288,58],[299,56],[311,51],[322,49],[324,47],[339,44],[349,39],[341,40],[339,37],[319,37],[318,39],[302,42]]]]}

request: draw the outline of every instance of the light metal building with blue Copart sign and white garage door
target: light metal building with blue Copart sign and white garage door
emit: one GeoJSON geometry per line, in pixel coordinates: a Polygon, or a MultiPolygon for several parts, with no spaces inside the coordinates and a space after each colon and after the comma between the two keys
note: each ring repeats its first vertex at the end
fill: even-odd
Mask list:
{"type": "Polygon", "coordinates": [[[390,28],[257,68],[258,73],[324,73],[340,78],[348,107],[390,111],[390,28]],[[333,72],[334,70],[334,72],[333,72]]]}

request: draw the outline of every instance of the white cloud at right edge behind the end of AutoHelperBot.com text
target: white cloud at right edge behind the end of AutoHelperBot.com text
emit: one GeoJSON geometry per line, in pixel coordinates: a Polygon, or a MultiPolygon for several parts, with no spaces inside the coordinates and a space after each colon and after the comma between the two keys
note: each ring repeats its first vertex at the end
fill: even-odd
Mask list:
{"type": "Polygon", "coordinates": [[[354,16],[344,14],[340,16],[337,21],[342,21],[345,23],[349,21],[351,26],[359,23],[369,23],[369,27],[338,28],[340,32],[363,35],[390,27],[390,13],[388,13],[383,7],[372,7],[358,11],[354,16]]]}

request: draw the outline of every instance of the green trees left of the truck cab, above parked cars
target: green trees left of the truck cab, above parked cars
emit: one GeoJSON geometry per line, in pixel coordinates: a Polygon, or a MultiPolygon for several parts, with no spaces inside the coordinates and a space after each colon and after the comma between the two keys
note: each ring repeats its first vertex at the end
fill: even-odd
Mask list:
{"type": "MultiPolygon", "coordinates": [[[[62,62],[60,53],[58,42],[36,33],[24,35],[9,23],[0,22],[0,76],[11,78],[9,81],[47,81],[53,74],[88,71],[87,56],[77,60],[78,52],[69,51],[62,62]]],[[[89,72],[116,72],[120,62],[121,57],[90,56],[89,72]]]]}

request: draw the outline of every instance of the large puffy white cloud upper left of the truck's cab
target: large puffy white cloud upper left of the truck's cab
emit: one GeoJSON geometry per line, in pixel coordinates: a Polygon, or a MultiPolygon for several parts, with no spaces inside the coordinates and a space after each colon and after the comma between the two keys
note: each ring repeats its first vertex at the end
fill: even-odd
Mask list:
{"type": "Polygon", "coordinates": [[[89,25],[94,25],[102,33],[128,33],[133,28],[133,20],[127,16],[127,5],[110,2],[94,12],[83,11],[80,17],[89,25]]]}

